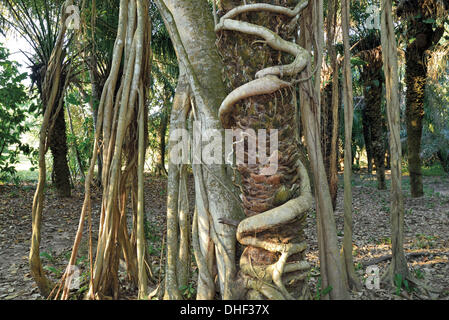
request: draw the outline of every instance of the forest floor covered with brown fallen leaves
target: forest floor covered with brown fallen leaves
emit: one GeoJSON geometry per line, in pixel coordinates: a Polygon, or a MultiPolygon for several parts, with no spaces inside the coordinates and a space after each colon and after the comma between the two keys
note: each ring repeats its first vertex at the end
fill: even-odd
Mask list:
{"type": "MultiPolygon", "coordinates": [[[[369,290],[364,286],[362,292],[352,294],[353,299],[449,299],[449,176],[424,177],[424,184],[425,196],[411,199],[409,180],[404,176],[405,250],[406,253],[413,253],[408,258],[411,274],[438,292],[418,294],[402,290],[400,295],[397,295],[394,289],[387,290],[380,287],[369,290]]],[[[189,189],[193,208],[192,181],[189,182],[189,189]]],[[[0,300],[41,299],[28,266],[34,190],[35,183],[0,185],[0,300]]],[[[62,200],[56,197],[52,188],[49,187],[46,191],[41,257],[48,276],[54,281],[58,280],[70,257],[84,198],[82,190],[82,187],[78,186],[72,198],[62,200]]],[[[161,262],[163,264],[161,248],[165,235],[166,179],[148,176],[145,190],[147,238],[155,278],[160,281],[161,262]]],[[[340,240],[343,238],[342,191],[340,188],[336,211],[340,240]]],[[[356,272],[364,281],[368,265],[377,266],[382,274],[389,264],[388,260],[375,263],[373,259],[386,256],[391,250],[390,192],[377,190],[374,176],[356,174],[353,194],[353,254],[356,272]]],[[[94,191],[92,202],[94,242],[98,230],[100,199],[99,190],[94,191]]],[[[84,234],[77,265],[81,267],[82,275],[87,277],[85,271],[88,266],[87,228],[84,234]]],[[[307,257],[312,265],[311,292],[318,297],[319,266],[314,211],[309,213],[306,234],[309,243],[307,257]]],[[[124,278],[123,272],[120,278],[124,278]]],[[[125,282],[123,280],[121,298],[135,297],[135,290],[129,288],[125,282]]],[[[85,287],[81,290],[83,289],[85,287]]]]}

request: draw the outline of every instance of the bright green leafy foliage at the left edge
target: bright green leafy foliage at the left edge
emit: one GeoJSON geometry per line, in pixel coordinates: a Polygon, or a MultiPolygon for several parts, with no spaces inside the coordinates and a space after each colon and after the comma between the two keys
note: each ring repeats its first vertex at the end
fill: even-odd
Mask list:
{"type": "Polygon", "coordinates": [[[20,154],[34,150],[21,137],[30,130],[37,109],[26,104],[27,94],[21,82],[27,74],[19,73],[18,64],[9,60],[9,52],[0,45],[0,180],[14,177],[14,165],[20,154]]]}

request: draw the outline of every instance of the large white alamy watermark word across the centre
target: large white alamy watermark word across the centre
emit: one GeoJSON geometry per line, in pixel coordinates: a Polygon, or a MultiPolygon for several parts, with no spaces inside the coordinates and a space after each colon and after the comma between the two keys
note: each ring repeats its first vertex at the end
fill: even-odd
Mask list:
{"type": "Polygon", "coordinates": [[[260,174],[265,176],[278,171],[278,130],[204,129],[201,122],[194,121],[192,131],[175,129],[171,132],[171,163],[258,165],[260,174]]]}

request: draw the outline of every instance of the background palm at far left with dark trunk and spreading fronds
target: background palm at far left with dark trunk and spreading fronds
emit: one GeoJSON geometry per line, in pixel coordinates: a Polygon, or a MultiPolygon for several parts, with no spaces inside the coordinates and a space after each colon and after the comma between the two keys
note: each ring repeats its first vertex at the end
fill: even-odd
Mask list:
{"type": "MultiPolygon", "coordinates": [[[[53,49],[56,46],[56,40],[59,26],[59,14],[64,1],[27,1],[27,0],[4,0],[3,4],[8,10],[8,16],[4,17],[7,26],[13,28],[22,36],[33,48],[31,55],[22,51],[28,58],[32,75],[33,84],[37,85],[42,103],[42,114],[45,113],[50,92],[45,92],[44,78],[47,75],[49,63],[53,49]]],[[[67,39],[64,39],[66,42],[67,39]]],[[[64,43],[64,47],[67,43],[64,43]]],[[[64,49],[61,59],[61,81],[57,91],[57,97],[54,100],[55,106],[52,115],[56,121],[50,130],[50,150],[53,155],[52,180],[56,186],[58,194],[61,197],[71,195],[70,171],[67,164],[67,134],[64,108],[57,108],[60,101],[64,99],[64,83],[68,77],[69,59],[64,49]],[[62,110],[62,112],[59,112],[62,110]]]]}

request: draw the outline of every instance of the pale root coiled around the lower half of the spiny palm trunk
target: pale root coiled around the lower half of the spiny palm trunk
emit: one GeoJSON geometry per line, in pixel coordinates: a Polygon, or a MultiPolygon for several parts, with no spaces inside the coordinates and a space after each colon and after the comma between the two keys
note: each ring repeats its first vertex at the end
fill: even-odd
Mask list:
{"type": "MultiPolygon", "coordinates": [[[[284,283],[294,286],[307,277],[310,265],[298,259],[298,255],[301,256],[307,248],[304,239],[301,241],[296,238],[294,240],[299,241],[295,242],[287,238],[288,235],[294,237],[292,233],[303,225],[313,201],[307,170],[300,161],[298,177],[301,180],[299,197],[280,207],[251,216],[238,226],[237,240],[248,246],[240,260],[240,268],[247,287],[251,289],[249,297],[257,297],[259,292],[271,299],[293,299],[284,283]],[[272,233],[281,235],[281,238],[273,238],[272,233]],[[262,254],[268,251],[277,261],[255,265],[251,257],[255,251],[262,254]],[[289,261],[290,258],[292,261],[289,261]]],[[[298,297],[306,294],[306,286],[303,286],[303,290],[298,297]]]]}

